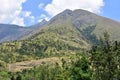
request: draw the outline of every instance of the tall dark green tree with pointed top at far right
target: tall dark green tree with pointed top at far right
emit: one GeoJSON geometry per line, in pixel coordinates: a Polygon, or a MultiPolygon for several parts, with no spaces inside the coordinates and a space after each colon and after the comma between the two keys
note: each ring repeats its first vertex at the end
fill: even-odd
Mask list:
{"type": "MultiPolygon", "coordinates": [[[[104,38],[101,39],[100,46],[93,46],[90,51],[90,61],[95,80],[113,80],[119,79],[119,60],[118,43],[110,41],[107,32],[104,33],[104,38]],[[117,76],[116,76],[117,75],[117,76]]],[[[120,51],[119,51],[120,52],[120,51]]]]}

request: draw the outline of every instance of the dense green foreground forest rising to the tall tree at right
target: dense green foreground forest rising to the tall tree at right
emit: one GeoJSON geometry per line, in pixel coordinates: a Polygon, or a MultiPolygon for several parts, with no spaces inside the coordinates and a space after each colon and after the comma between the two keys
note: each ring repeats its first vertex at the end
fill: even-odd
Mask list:
{"type": "MultiPolygon", "coordinates": [[[[64,48],[62,46],[65,45],[61,45],[64,48]]],[[[120,42],[110,41],[108,33],[104,33],[99,45],[68,57],[69,59],[61,59],[62,64],[35,66],[21,72],[7,71],[6,62],[0,61],[0,79],[120,80],[120,42]]]]}

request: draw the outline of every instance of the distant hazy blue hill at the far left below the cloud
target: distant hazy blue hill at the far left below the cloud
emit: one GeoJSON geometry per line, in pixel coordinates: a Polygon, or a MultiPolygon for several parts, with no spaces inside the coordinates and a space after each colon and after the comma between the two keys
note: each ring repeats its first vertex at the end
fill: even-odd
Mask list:
{"type": "Polygon", "coordinates": [[[32,31],[30,28],[25,28],[17,25],[0,24],[0,42],[18,40],[20,37],[29,34],[32,31]]]}

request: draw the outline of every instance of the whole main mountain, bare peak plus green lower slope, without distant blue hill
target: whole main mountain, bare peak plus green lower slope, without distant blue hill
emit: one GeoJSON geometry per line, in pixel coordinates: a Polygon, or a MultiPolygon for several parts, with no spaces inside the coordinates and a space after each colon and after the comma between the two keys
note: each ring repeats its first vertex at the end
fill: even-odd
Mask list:
{"type": "Polygon", "coordinates": [[[21,40],[1,43],[0,60],[18,62],[79,53],[97,44],[105,31],[112,40],[120,41],[119,22],[81,9],[67,9],[43,22],[30,27],[32,31],[21,40]]]}

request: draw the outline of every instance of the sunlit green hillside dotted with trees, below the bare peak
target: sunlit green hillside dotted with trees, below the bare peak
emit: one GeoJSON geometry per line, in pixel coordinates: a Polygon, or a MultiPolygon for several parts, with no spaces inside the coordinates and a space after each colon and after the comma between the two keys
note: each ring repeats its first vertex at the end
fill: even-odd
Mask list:
{"type": "Polygon", "coordinates": [[[75,54],[90,47],[84,38],[80,37],[80,32],[70,24],[45,27],[27,40],[2,43],[0,59],[5,62],[16,62],[75,54]]]}

